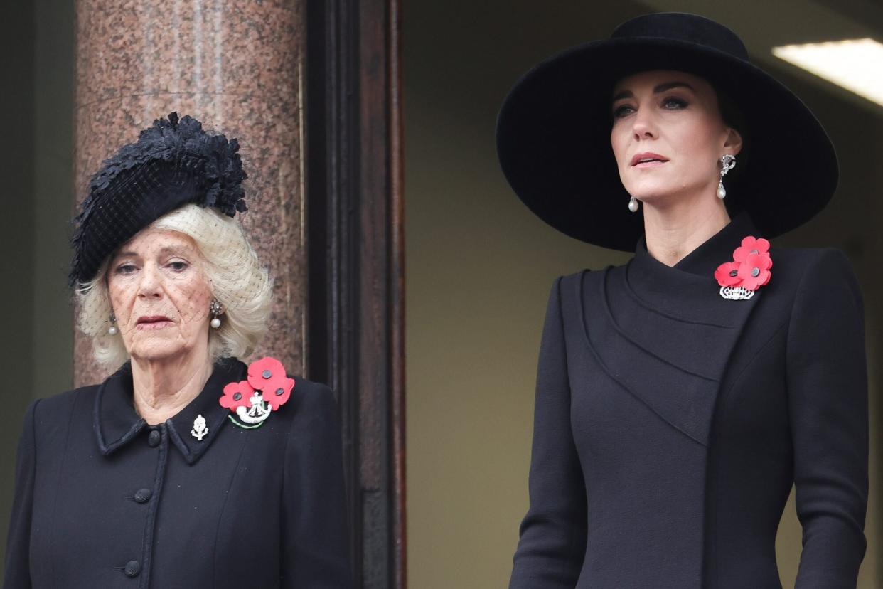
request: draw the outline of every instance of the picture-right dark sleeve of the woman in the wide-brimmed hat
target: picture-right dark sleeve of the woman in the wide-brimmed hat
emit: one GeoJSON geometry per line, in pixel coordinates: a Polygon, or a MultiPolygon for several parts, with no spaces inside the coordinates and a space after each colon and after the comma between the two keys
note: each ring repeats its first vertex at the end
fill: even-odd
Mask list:
{"type": "Polygon", "coordinates": [[[854,589],[868,501],[864,312],[846,256],[824,250],[797,291],[787,374],[797,517],[797,589],[854,589]]]}

